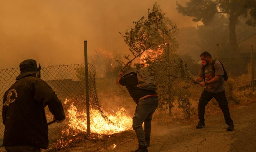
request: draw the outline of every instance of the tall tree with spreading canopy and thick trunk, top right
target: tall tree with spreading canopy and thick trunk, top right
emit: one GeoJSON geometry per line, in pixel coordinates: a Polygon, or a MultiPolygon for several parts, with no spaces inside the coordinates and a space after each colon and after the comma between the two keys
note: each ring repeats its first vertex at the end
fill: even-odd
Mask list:
{"type": "Polygon", "coordinates": [[[190,0],[183,7],[176,2],[177,10],[185,16],[193,17],[193,21],[202,21],[207,25],[214,15],[222,13],[229,16],[229,41],[235,57],[239,56],[239,48],[236,39],[236,24],[239,17],[251,16],[247,24],[254,26],[256,18],[255,0],[190,0]]]}

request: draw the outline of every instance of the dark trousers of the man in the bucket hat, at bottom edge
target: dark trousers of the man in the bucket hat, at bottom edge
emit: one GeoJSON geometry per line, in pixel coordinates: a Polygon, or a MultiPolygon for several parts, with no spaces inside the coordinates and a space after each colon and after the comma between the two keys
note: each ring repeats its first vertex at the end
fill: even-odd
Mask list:
{"type": "Polygon", "coordinates": [[[36,146],[5,146],[7,152],[40,152],[36,146]]]}

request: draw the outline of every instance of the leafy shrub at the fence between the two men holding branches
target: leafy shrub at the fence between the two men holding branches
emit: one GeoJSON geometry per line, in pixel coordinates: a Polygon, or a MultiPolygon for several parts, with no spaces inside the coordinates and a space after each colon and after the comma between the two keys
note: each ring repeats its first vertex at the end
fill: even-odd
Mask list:
{"type": "Polygon", "coordinates": [[[194,85],[194,78],[187,70],[186,64],[177,54],[171,54],[169,60],[166,60],[165,54],[162,54],[153,61],[146,60],[145,64],[147,66],[141,68],[140,71],[154,77],[158,84],[159,107],[171,113],[175,98],[178,97],[179,108],[183,109],[183,114],[188,119],[190,117],[190,95],[187,89],[194,85]]]}

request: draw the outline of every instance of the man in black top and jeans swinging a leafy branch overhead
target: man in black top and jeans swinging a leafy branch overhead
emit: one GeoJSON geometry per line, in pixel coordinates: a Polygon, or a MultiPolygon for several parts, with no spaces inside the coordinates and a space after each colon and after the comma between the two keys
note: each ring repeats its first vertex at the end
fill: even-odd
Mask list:
{"type": "Polygon", "coordinates": [[[138,138],[139,148],[137,152],[147,152],[150,144],[152,115],[158,107],[156,91],[144,90],[139,87],[137,74],[130,68],[120,71],[116,78],[116,84],[126,86],[130,96],[137,104],[133,116],[133,129],[138,138]],[[144,130],[142,123],[144,122],[144,130]]]}

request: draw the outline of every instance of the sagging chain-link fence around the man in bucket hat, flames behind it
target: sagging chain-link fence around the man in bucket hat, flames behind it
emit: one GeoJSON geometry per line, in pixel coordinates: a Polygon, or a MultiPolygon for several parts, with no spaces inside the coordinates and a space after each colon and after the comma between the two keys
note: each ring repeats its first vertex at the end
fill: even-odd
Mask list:
{"type": "MultiPolygon", "coordinates": [[[[3,101],[5,91],[16,81],[20,74],[19,68],[0,70],[0,100],[3,101]]],[[[105,133],[106,125],[114,125],[101,110],[95,84],[95,67],[88,64],[90,119],[92,133],[105,133]]],[[[87,132],[86,84],[84,64],[59,65],[41,68],[41,78],[52,87],[62,102],[66,119],[62,123],[49,125],[49,142],[53,143],[62,136],[74,136],[87,132]]],[[[2,107],[2,102],[1,102],[2,107]]],[[[53,120],[46,107],[47,121],[53,120]]],[[[2,108],[0,111],[2,120],[2,108]]],[[[3,140],[4,125],[0,123],[0,140],[3,140]]]]}

